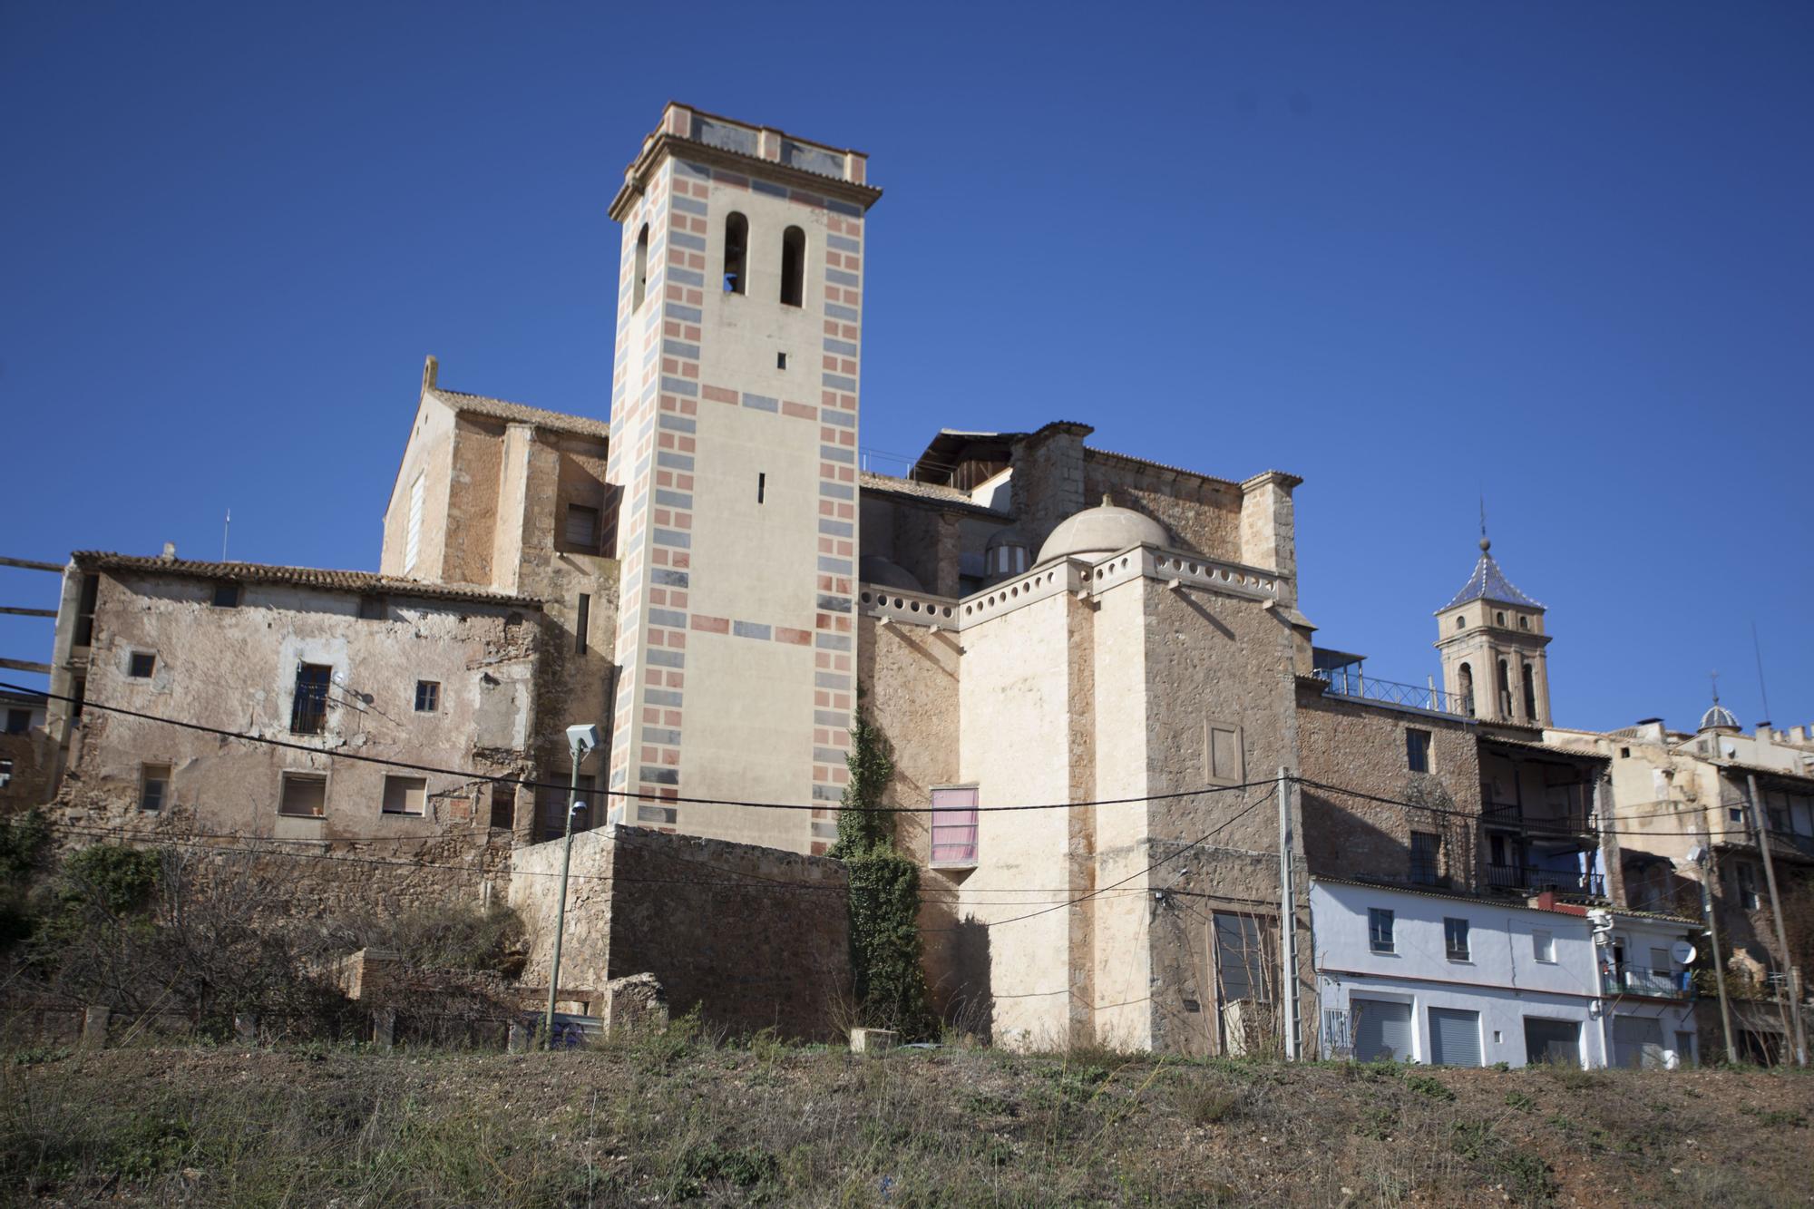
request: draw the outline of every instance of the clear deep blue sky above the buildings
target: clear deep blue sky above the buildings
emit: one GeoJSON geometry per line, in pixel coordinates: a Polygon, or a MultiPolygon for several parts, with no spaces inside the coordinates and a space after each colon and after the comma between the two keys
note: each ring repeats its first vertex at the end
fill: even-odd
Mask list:
{"type": "Polygon", "coordinates": [[[865,447],[1301,474],[1319,639],[1415,683],[1484,494],[1560,722],[1749,726],[1752,623],[1814,721],[1814,5],[653,11],[0,5],[0,554],[374,568],[430,352],[604,416],[675,98],[871,154],[865,447]]]}

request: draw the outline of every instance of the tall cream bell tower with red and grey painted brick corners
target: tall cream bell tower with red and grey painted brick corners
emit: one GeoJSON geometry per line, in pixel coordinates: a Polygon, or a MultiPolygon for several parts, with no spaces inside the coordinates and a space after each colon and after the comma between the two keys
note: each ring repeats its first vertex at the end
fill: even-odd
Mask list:
{"type": "Polygon", "coordinates": [[[860,152],[669,103],[622,223],[611,450],[624,821],[822,851],[856,706],[860,152]],[[677,797],[813,802],[775,811],[677,797]]]}

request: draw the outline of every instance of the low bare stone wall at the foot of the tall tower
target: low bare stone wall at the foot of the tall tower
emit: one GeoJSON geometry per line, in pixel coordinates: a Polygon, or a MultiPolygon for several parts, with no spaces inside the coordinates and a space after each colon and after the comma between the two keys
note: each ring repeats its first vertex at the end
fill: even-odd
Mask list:
{"type": "MultiPolygon", "coordinates": [[[[512,906],[532,929],[524,980],[546,984],[562,842],[517,851],[512,906]]],[[[733,1029],[836,1033],[849,997],[844,866],[646,828],[573,839],[562,988],[651,973],[669,1011],[733,1029]]]]}

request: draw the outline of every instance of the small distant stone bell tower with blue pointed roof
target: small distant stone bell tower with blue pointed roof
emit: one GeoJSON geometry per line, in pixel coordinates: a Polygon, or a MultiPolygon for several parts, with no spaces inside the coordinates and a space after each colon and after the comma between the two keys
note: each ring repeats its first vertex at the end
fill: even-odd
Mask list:
{"type": "Polygon", "coordinates": [[[1469,717],[1549,726],[1544,606],[1518,592],[1493,559],[1480,526],[1480,561],[1455,599],[1437,610],[1442,684],[1469,717]]]}

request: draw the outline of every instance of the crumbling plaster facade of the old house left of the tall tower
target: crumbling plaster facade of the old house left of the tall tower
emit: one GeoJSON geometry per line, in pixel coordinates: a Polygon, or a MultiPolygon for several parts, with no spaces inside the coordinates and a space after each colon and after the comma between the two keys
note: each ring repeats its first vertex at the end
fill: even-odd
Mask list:
{"type": "MultiPolygon", "coordinates": [[[[410,773],[336,752],[486,775],[526,775],[533,724],[533,614],[473,603],[394,599],[386,619],[359,617],[359,595],[245,585],[238,608],[210,606],[212,583],[190,577],[114,575],[100,581],[87,699],[73,744],[58,817],[83,830],[205,833],[259,840],[308,840],[308,851],[379,853],[410,862],[439,853],[426,879],[388,864],[346,866],[374,900],[403,880],[477,886],[508,850],[488,826],[488,784],[459,773],[410,773]],[[129,677],[132,652],[156,655],[156,672],[129,677]],[[321,735],[292,735],[297,663],[327,663],[330,690],[321,735]],[[441,708],[415,712],[415,683],[441,684],[441,708]],[[116,704],[232,733],[256,733],[314,752],[236,742],[214,733],[96,708],[116,704]],[[138,810],[140,766],[171,764],[169,804],[138,810]],[[319,819],[278,815],[285,770],[327,775],[319,819]],[[385,777],[423,775],[423,815],[383,811],[385,777]]],[[[278,860],[278,857],[272,857],[278,860]]]]}

